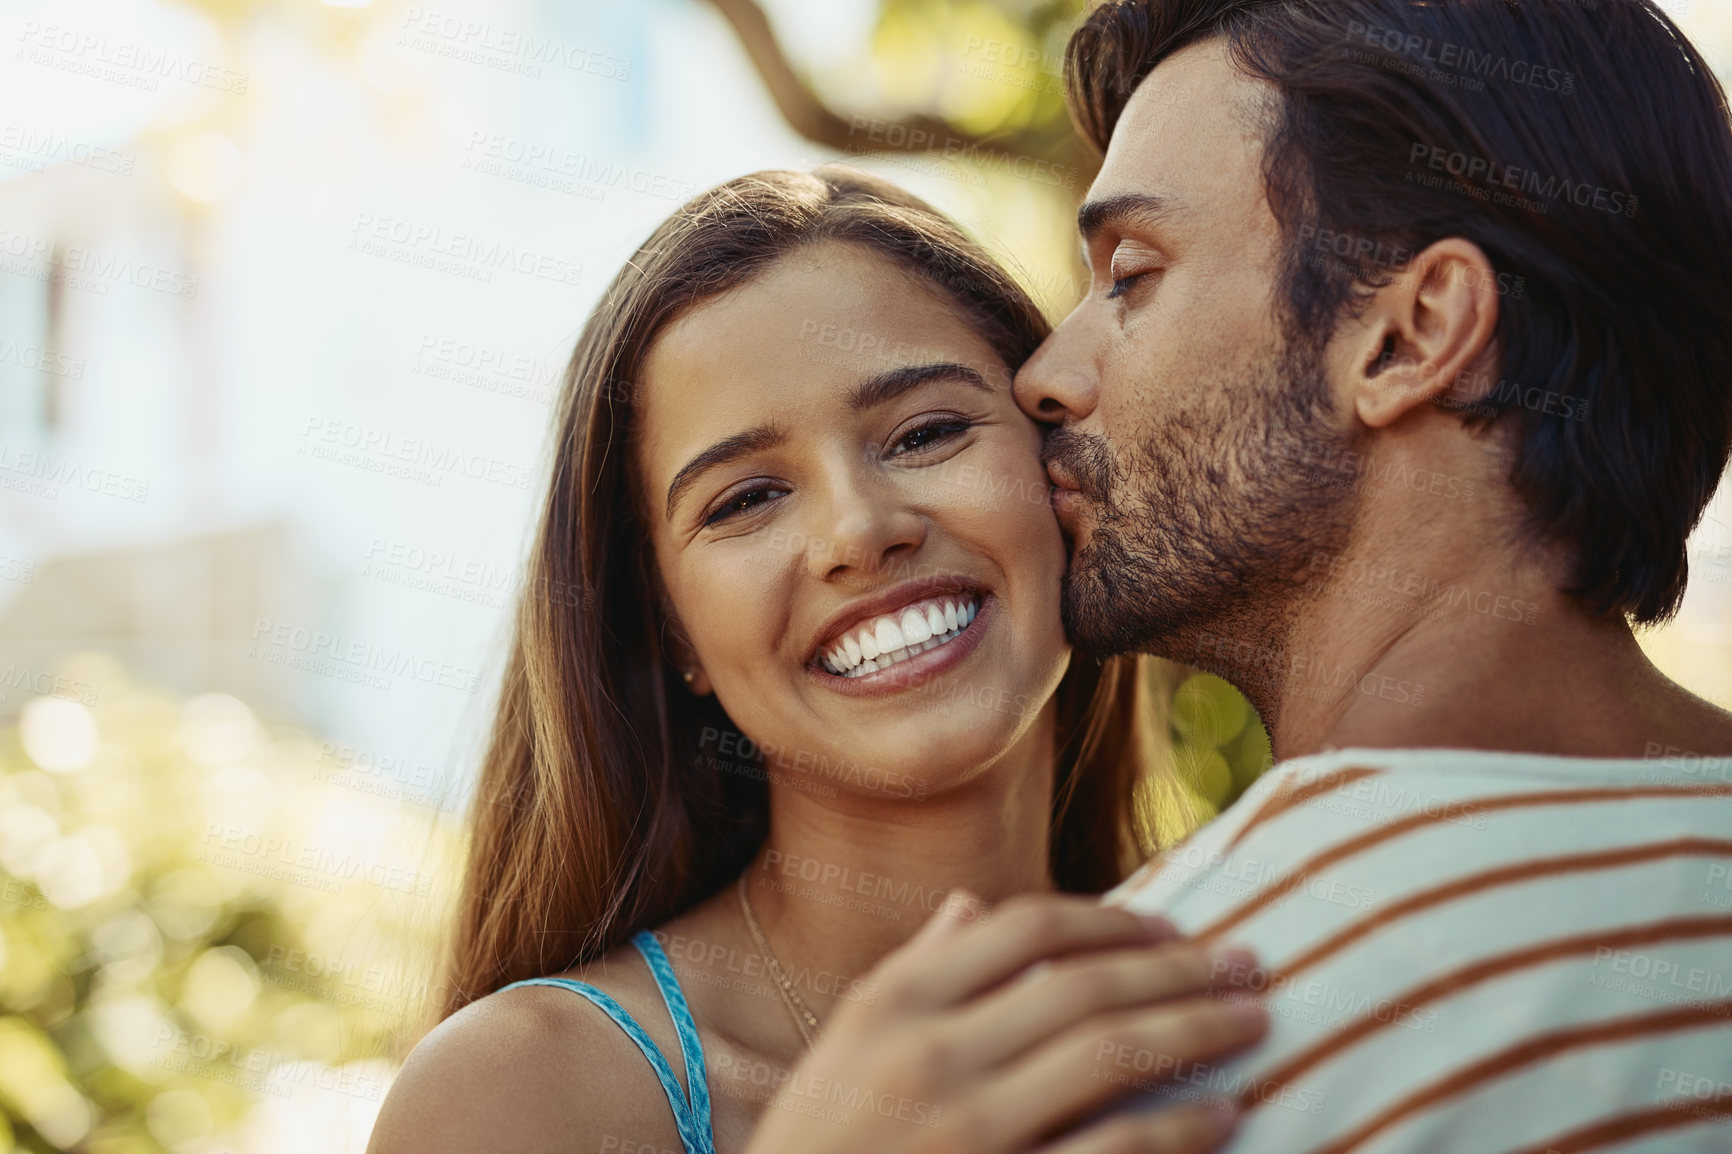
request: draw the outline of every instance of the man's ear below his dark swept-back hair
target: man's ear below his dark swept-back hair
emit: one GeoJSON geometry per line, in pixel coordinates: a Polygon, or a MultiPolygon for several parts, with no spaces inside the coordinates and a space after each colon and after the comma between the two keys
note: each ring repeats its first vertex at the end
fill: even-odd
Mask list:
{"type": "Polygon", "coordinates": [[[1438,241],[1342,326],[1332,357],[1335,395],[1368,428],[1393,425],[1472,379],[1496,329],[1498,274],[1491,260],[1472,241],[1438,241]]]}

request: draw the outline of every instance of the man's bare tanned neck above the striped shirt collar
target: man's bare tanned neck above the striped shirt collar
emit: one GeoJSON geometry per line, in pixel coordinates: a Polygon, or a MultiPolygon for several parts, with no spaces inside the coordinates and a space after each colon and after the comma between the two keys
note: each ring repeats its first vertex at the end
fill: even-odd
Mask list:
{"type": "Polygon", "coordinates": [[[1547,567],[1354,551],[1318,577],[1278,667],[1249,686],[1280,759],[1347,747],[1732,752],[1732,714],[1664,677],[1628,624],[1583,612],[1547,567]]]}

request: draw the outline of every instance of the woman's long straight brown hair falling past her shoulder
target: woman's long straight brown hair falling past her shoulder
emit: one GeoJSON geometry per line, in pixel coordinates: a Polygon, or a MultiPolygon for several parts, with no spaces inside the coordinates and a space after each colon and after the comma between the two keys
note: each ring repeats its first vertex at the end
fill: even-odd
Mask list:
{"type": "MultiPolygon", "coordinates": [[[[565,374],[547,502],[469,816],[442,1019],[695,906],[762,846],[764,775],[714,757],[733,724],[714,697],[686,690],[670,660],[632,468],[634,395],[675,317],[824,241],[859,244],[937,286],[1010,369],[1048,333],[1027,293],[954,224],[849,168],[731,180],[637,250],[565,374]]],[[[1136,853],[1134,674],[1129,660],[1076,657],[1058,688],[1060,889],[1103,891],[1136,853]]]]}

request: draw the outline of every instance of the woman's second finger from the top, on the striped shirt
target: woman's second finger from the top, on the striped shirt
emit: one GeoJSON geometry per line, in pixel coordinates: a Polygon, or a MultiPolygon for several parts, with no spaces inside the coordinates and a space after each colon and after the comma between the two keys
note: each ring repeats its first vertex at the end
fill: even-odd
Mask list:
{"type": "Polygon", "coordinates": [[[1076,955],[1036,965],[958,1008],[951,1033],[973,1069],[986,1069],[1077,1022],[1228,986],[1254,965],[1245,950],[1192,943],[1076,955]]]}

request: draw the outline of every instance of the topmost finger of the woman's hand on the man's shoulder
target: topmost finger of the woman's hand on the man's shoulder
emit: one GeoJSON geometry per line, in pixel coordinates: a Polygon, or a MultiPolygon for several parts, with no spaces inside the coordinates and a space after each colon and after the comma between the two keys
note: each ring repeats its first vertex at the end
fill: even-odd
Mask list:
{"type": "Polygon", "coordinates": [[[1093,898],[1011,898],[977,925],[923,932],[885,958],[875,976],[895,1008],[918,1014],[984,993],[1036,962],[1086,950],[1148,946],[1174,936],[1160,918],[1108,910],[1093,898]]]}

